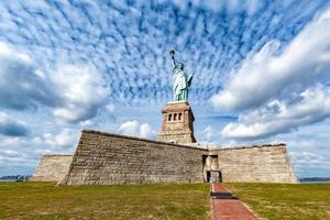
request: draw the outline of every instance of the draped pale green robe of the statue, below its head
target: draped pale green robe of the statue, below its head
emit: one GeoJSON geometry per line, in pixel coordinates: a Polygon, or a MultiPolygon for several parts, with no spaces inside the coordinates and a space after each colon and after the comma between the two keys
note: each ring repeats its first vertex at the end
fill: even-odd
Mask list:
{"type": "Polygon", "coordinates": [[[180,68],[173,69],[173,90],[176,101],[188,100],[188,76],[180,68]]]}

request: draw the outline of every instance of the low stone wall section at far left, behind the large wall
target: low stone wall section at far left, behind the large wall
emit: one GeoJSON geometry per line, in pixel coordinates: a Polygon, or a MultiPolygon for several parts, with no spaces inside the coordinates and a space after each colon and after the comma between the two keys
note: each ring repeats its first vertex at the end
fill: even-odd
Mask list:
{"type": "Polygon", "coordinates": [[[68,172],[73,160],[72,154],[50,154],[43,155],[29,180],[32,182],[58,182],[68,172]]]}

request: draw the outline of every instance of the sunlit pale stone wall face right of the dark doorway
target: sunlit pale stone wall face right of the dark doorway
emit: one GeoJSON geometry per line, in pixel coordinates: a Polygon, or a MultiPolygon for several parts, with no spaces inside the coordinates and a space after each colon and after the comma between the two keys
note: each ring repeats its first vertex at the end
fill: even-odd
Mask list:
{"type": "Polygon", "coordinates": [[[211,150],[218,155],[222,180],[228,183],[297,183],[286,145],[211,150]]]}

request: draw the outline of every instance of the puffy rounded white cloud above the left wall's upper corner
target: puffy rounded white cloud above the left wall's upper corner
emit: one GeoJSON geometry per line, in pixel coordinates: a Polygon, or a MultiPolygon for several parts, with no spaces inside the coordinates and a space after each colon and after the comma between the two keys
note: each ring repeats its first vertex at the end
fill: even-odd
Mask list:
{"type": "Polygon", "coordinates": [[[95,117],[108,95],[101,75],[91,66],[59,65],[51,80],[63,101],[54,114],[68,122],[95,117]]]}

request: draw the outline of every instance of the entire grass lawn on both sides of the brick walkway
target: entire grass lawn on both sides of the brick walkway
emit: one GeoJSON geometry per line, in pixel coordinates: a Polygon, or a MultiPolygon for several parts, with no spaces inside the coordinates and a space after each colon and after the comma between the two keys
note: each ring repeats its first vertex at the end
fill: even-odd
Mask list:
{"type": "MultiPolygon", "coordinates": [[[[258,217],[330,219],[330,184],[226,184],[258,217]]],[[[210,185],[0,183],[0,219],[210,219],[210,185]]]]}

